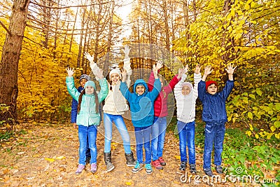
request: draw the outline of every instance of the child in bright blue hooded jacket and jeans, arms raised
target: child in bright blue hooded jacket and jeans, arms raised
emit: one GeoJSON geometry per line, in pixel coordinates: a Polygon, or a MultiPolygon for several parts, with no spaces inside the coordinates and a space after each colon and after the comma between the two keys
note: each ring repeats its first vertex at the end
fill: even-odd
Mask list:
{"type": "Polygon", "coordinates": [[[134,92],[130,92],[125,83],[127,76],[125,69],[122,73],[123,80],[120,83],[120,92],[130,102],[130,112],[137,144],[137,164],[132,169],[133,173],[143,169],[144,164],[147,174],[153,172],[151,167],[151,125],[153,125],[154,120],[153,102],[158,97],[161,88],[158,69],[155,65],[153,66],[153,73],[155,75],[155,83],[151,92],[148,92],[148,85],[143,79],[137,79],[133,86],[134,92]],[[145,148],[145,161],[143,160],[143,146],[145,148]]]}

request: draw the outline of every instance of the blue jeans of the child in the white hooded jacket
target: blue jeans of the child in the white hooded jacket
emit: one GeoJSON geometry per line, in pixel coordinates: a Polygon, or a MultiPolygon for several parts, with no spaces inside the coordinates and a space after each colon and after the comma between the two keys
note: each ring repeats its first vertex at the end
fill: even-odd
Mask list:
{"type": "Polygon", "coordinates": [[[177,122],[181,162],[187,162],[186,146],[188,142],[188,162],[195,164],[195,121],[190,123],[177,122]]]}

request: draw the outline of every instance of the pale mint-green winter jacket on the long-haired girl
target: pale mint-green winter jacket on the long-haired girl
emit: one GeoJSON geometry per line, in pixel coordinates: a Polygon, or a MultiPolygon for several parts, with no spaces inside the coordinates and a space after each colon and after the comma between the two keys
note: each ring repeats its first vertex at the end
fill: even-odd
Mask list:
{"type": "MultiPolygon", "coordinates": [[[[87,81],[88,82],[88,81],[87,81]]],[[[87,84],[87,83],[85,83],[87,84]]],[[[108,95],[108,84],[106,78],[99,80],[100,92],[97,93],[98,101],[101,103],[108,95]]],[[[69,94],[78,102],[80,92],[75,88],[73,77],[66,77],[66,86],[69,94]]],[[[96,90],[96,88],[94,88],[96,90]]],[[[80,112],[77,115],[77,125],[90,126],[100,124],[99,111],[95,110],[95,97],[92,95],[83,95],[80,104],[80,112]]]]}

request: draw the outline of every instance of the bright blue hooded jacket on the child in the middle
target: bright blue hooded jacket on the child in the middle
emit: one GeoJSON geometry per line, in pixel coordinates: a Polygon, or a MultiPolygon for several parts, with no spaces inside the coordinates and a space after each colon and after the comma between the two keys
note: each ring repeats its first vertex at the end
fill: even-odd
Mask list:
{"type": "Polygon", "coordinates": [[[153,125],[154,111],[153,102],[158,97],[161,90],[160,79],[155,79],[153,90],[148,92],[148,85],[143,79],[135,81],[133,86],[133,93],[131,93],[125,82],[120,83],[120,92],[122,92],[125,99],[130,102],[130,112],[132,115],[132,123],[134,127],[148,127],[153,125]],[[137,85],[142,84],[145,87],[143,95],[136,93],[137,85]]]}

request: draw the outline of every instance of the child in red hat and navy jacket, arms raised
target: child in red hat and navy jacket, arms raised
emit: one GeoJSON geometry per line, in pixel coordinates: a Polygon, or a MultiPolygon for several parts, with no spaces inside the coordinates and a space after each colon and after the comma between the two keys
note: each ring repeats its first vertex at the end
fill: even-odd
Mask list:
{"type": "Polygon", "coordinates": [[[233,73],[236,67],[232,64],[228,65],[228,81],[221,92],[218,92],[218,84],[216,81],[206,81],[207,76],[211,74],[213,69],[211,66],[205,67],[202,81],[198,84],[198,97],[202,101],[202,120],[205,125],[204,153],[203,153],[203,169],[205,174],[213,176],[211,170],[211,153],[214,144],[214,165],[218,174],[223,174],[222,152],[223,139],[225,137],[225,123],[228,121],[227,111],[225,110],[225,102],[234,86],[233,73]]]}

